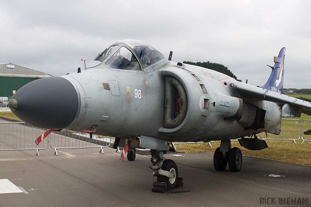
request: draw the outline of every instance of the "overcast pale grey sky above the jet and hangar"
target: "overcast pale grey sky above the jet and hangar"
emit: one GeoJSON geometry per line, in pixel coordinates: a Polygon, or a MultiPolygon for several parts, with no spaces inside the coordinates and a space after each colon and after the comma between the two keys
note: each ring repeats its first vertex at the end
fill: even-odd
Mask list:
{"type": "Polygon", "coordinates": [[[126,38],[172,61],[211,61],[264,85],[286,47],[284,88],[311,88],[311,1],[0,0],[0,63],[53,76],[126,38]]]}

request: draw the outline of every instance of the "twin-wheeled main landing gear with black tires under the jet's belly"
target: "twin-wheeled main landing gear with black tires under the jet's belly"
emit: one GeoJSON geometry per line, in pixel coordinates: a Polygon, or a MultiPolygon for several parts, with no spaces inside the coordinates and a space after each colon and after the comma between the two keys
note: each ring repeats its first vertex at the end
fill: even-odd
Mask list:
{"type": "Polygon", "coordinates": [[[231,149],[230,139],[222,140],[214,153],[214,167],[217,171],[225,170],[227,164],[231,172],[239,172],[242,168],[242,152],[238,147],[231,149]]]}

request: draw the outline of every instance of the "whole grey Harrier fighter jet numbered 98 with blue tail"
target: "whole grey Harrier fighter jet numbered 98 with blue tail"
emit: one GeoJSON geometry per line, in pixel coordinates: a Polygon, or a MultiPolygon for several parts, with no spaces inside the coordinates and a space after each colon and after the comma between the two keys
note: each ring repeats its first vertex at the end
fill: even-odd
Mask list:
{"type": "Polygon", "coordinates": [[[151,45],[134,39],[112,44],[85,70],[38,79],[19,89],[9,102],[13,113],[36,127],[91,131],[116,137],[114,148],[151,149],[158,182],[176,187],[177,165],[165,159],[171,142],[221,141],[214,166],[232,172],[242,167],[242,153],[231,148],[240,138],[250,150],[267,147],[256,134],[279,134],[282,117],[311,115],[311,103],[285,96],[285,48],[262,87],[241,83],[206,68],[168,60],[151,45]],[[254,138],[245,138],[251,136],[254,138]]]}

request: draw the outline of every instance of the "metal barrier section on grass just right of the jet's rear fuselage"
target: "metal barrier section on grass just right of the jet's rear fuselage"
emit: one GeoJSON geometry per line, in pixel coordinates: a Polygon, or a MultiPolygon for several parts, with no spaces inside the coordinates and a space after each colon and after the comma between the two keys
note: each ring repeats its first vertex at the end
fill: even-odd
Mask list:
{"type": "Polygon", "coordinates": [[[301,121],[299,119],[282,119],[279,135],[262,132],[259,137],[263,140],[293,140],[296,143],[301,137],[301,121]]]}

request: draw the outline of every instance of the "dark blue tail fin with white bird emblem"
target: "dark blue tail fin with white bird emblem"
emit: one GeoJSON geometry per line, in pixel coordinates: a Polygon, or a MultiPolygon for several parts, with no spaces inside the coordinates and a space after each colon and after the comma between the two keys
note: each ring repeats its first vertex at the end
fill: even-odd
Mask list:
{"type": "Polygon", "coordinates": [[[279,56],[274,57],[274,66],[267,83],[264,86],[258,86],[269,91],[283,93],[283,76],[284,76],[284,58],[285,58],[285,47],[283,47],[279,53],[279,56]]]}

